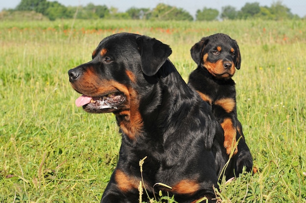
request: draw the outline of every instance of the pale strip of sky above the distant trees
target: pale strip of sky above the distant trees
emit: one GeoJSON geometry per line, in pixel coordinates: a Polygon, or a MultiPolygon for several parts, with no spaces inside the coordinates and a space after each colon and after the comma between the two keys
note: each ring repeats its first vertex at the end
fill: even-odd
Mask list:
{"type": "MultiPolygon", "coordinates": [[[[53,0],[49,0],[53,1],[53,0]]],[[[155,8],[158,3],[165,3],[178,8],[183,8],[188,11],[192,16],[196,15],[198,9],[214,8],[221,12],[223,6],[233,6],[236,10],[240,10],[245,3],[258,2],[260,6],[271,6],[277,0],[57,0],[65,6],[87,5],[93,3],[95,5],[106,5],[109,8],[118,8],[119,12],[125,12],[131,7],[136,8],[155,8]]],[[[1,0],[0,11],[3,8],[15,8],[21,0],[1,0]]],[[[281,0],[282,4],[288,7],[293,14],[300,17],[306,16],[306,0],[281,0]]]]}

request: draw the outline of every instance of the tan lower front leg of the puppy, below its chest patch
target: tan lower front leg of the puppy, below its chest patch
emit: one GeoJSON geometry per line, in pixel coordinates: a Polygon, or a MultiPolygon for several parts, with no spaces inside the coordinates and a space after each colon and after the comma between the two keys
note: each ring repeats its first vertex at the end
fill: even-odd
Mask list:
{"type": "MultiPolygon", "coordinates": [[[[226,118],[223,120],[222,123],[220,123],[221,127],[224,131],[224,148],[226,149],[226,153],[229,155],[232,151],[232,149],[236,145],[236,133],[237,129],[234,127],[233,122],[230,118],[226,118]]],[[[235,151],[233,155],[237,154],[238,148],[236,146],[235,151]]]]}

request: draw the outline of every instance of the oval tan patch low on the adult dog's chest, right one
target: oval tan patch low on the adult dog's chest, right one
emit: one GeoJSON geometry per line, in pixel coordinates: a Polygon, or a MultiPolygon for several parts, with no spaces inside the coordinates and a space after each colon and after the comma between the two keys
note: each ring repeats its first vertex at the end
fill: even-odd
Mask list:
{"type": "Polygon", "coordinates": [[[200,189],[200,185],[194,180],[182,180],[172,187],[172,191],[178,194],[194,194],[200,189]]]}

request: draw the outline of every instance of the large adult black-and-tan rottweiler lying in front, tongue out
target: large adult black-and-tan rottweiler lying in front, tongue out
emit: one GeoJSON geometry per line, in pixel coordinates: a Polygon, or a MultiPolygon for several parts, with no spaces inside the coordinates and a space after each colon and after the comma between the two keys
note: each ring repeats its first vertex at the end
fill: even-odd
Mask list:
{"type": "Polygon", "coordinates": [[[150,198],[161,190],[179,203],[216,201],[213,186],[228,159],[223,130],[169,61],[171,53],[156,39],[119,33],[99,43],[92,61],[68,71],[82,94],[76,104],[89,113],[113,113],[122,133],[102,203],[138,202],[144,157],[142,185],[150,198]]]}

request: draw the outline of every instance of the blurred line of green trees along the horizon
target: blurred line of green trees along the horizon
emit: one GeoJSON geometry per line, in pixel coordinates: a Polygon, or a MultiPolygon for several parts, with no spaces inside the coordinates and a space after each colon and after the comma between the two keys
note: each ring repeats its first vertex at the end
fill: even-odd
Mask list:
{"type": "Polygon", "coordinates": [[[144,20],[236,20],[261,18],[264,20],[299,19],[298,15],[290,12],[290,9],[276,1],[268,6],[260,6],[258,2],[245,3],[236,10],[233,6],[224,6],[221,13],[217,9],[198,9],[196,18],[182,8],[159,3],[155,8],[131,7],[126,12],[118,12],[115,7],[106,5],[94,5],[89,3],[86,6],[64,6],[58,1],[48,0],[21,0],[15,9],[9,11],[35,11],[43,14],[49,20],[56,19],[144,19],[144,20]]]}

